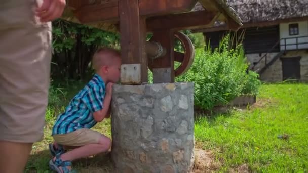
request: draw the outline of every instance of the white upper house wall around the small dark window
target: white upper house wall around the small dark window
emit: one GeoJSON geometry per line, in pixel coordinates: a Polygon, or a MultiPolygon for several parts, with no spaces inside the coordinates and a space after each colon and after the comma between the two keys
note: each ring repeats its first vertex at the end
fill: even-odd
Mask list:
{"type": "MultiPolygon", "coordinates": [[[[286,44],[296,44],[296,38],[294,37],[300,37],[297,38],[297,43],[304,43],[308,42],[308,21],[301,21],[301,22],[290,22],[290,23],[281,23],[279,25],[279,32],[280,32],[280,50],[294,50],[296,49],[296,45],[287,45],[282,46],[285,44],[285,40],[282,38],[288,38],[286,39],[286,44]],[[298,35],[289,35],[289,24],[298,23],[298,35]],[[302,37],[305,36],[305,37],[302,37]]],[[[299,44],[298,49],[308,49],[308,44],[299,44]]]]}

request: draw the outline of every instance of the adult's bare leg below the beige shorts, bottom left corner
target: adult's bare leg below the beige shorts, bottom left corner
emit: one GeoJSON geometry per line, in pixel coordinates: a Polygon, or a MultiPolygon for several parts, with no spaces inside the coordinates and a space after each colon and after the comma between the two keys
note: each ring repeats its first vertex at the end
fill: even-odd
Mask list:
{"type": "Polygon", "coordinates": [[[31,149],[32,143],[0,141],[0,172],[22,173],[31,149]]]}

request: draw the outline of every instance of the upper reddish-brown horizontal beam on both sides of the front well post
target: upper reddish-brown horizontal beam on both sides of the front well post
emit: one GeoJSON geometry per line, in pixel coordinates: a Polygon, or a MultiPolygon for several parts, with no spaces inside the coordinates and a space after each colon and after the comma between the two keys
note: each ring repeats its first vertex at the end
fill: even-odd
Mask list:
{"type": "MultiPolygon", "coordinates": [[[[121,2],[121,1],[120,1],[121,2]]],[[[108,1],[99,5],[88,5],[76,11],[81,23],[119,20],[119,1],[108,1]]],[[[139,15],[154,16],[170,13],[188,12],[194,8],[197,0],[139,0],[139,15]]]]}

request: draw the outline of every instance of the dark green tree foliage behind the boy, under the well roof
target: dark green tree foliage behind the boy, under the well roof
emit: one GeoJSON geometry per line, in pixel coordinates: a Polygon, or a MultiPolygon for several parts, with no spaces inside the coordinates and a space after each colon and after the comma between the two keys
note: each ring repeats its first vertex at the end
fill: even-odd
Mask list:
{"type": "Polygon", "coordinates": [[[53,23],[52,76],[83,79],[101,46],[119,48],[119,35],[58,19],[53,23]]]}

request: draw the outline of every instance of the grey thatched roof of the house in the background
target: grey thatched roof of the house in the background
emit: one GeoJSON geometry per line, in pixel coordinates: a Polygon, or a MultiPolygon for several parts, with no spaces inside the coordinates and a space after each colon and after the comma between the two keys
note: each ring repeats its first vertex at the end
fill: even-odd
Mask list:
{"type": "MultiPolygon", "coordinates": [[[[308,0],[226,0],[243,24],[308,17],[308,0]]],[[[201,6],[196,8],[202,8],[201,6]]],[[[216,22],[215,27],[224,25],[216,22]]]]}

